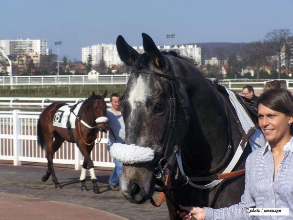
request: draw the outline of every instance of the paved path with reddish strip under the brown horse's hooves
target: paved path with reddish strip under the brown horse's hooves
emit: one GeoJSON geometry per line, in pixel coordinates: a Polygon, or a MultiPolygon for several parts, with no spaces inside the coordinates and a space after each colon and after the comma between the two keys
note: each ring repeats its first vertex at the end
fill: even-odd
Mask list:
{"type": "MultiPolygon", "coordinates": [[[[13,166],[0,161],[1,220],[168,220],[166,202],[161,207],[149,201],[142,205],[129,203],[120,191],[108,189],[111,169],[95,168],[100,194],[81,191],[80,171],[58,165],[55,173],[63,186],[55,189],[52,178],[42,182],[45,164],[26,163],[13,166]]],[[[156,195],[158,196],[158,195],[156,195]]],[[[155,197],[156,198],[156,197],[155,197]]]]}

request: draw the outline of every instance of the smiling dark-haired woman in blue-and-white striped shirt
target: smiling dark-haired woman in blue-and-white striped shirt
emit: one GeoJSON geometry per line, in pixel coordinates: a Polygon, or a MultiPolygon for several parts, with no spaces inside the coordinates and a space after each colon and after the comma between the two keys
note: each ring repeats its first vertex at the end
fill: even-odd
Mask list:
{"type": "Polygon", "coordinates": [[[293,219],[293,96],[284,88],[265,91],[257,102],[258,124],[267,143],[246,160],[241,202],[228,208],[182,206],[183,220],[293,219]],[[289,208],[289,216],[253,216],[249,208],[289,208]]]}

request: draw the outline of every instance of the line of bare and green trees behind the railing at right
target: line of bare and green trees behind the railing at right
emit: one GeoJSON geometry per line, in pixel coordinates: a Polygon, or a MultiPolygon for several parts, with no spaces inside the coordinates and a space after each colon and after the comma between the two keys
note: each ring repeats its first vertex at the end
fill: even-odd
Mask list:
{"type": "MultiPolygon", "coordinates": [[[[224,64],[227,61],[228,71],[226,78],[237,77],[248,78],[248,76],[240,76],[240,72],[247,66],[255,67],[254,78],[288,78],[287,74],[282,74],[282,68],[291,68],[293,71],[293,36],[290,29],[274,29],[268,32],[264,40],[251,42],[248,44],[234,44],[230,48],[217,47],[213,52],[213,56],[217,57],[224,64]],[[285,63],[285,66],[282,66],[285,63]],[[271,76],[260,70],[262,66],[271,66],[273,71],[271,76]]],[[[221,77],[218,68],[215,66],[207,66],[210,68],[207,77],[221,77]]]]}

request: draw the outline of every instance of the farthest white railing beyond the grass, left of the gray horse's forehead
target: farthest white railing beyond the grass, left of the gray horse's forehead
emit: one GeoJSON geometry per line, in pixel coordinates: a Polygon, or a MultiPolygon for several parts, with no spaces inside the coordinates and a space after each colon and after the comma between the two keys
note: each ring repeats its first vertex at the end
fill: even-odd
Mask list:
{"type": "Polygon", "coordinates": [[[124,85],[129,75],[0,76],[0,86],[124,85]],[[11,84],[12,83],[12,84],[11,84]]]}

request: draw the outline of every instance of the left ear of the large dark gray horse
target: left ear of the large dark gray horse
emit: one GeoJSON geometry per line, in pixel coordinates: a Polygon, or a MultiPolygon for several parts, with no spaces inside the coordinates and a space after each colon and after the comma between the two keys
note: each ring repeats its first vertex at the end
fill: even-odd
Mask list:
{"type": "Polygon", "coordinates": [[[117,37],[116,46],[121,61],[127,66],[133,66],[139,53],[129,46],[121,35],[117,37]]]}

